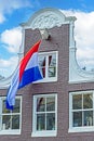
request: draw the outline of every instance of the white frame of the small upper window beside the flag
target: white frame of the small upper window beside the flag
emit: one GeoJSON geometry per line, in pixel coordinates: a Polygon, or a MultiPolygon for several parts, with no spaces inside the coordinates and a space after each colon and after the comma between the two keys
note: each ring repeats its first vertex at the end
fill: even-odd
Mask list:
{"type": "MultiPolygon", "coordinates": [[[[50,51],[50,52],[40,52],[40,53],[39,53],[39,55],[45,55],[45,57],[49,56],[49,55],[51,55],[51,54],[56,54],[56,76],[55,76],[55,77],[45,77],[45,78],[43,78],[43,79],[41,79],[41,80],[38,80],[37,82],[57,81],[58,51],[50,51]]],[[[46,67],[45,67],[45,74],[46,74],[46,72],[48,72],[48,69],[46,69],[46,67]]],[[[35,82],[35,84],[37,84],[37,82],[35,82]]]]}

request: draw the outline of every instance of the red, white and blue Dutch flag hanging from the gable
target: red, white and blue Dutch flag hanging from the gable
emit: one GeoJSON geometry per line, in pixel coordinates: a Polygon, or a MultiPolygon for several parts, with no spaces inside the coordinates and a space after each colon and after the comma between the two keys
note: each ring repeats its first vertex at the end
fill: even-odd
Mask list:
{"type": "Polygon", "coordinates": [[[15,105],[15,95],[17,89],[25,87],[26,85],[42,79],[41,73],[38,67],[38,49],[41,41],[38,41],[26,55],[22,59],[14,76],[11,80],[11,85],[6,95],[6,108],[13,110],[15,105]]]}

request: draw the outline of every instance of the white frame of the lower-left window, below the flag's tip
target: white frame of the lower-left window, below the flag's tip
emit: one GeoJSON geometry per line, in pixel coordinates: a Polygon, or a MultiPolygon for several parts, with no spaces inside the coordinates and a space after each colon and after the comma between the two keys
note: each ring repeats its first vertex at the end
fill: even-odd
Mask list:
{"type": "MultiPolygon", "coordinates": [[[[2,100],[5,100],[5,97],[0,97],[0,118],[2,118],[2,100]]],[[[21,100],[21,112],[19,112],[19,129],[0,129],[0,134],[21,134],[22,128],[22,97],[16,97],[15,99],[21,100]]],[[[0,123],[2,124],[2,121],[0,123]]]]}

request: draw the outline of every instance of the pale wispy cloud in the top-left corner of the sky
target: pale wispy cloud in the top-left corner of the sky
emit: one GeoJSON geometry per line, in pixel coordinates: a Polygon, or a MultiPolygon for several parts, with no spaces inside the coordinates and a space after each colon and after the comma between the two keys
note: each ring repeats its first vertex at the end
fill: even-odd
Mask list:
{"type": "Polygon", "coordinates": [[[6,14],[26,7],[32,7],[29,0],[0,0],[0,24],[5,21],[6,14]]]}

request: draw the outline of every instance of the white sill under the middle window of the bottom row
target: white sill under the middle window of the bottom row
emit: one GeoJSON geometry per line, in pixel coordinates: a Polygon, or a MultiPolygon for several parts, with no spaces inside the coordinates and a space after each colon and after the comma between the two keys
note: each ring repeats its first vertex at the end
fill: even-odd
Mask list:
{"type": "Polygon", "coordinates": [[[56,137],[56,131],[36,131],[31,133],[31,137],[56,137]]]}

